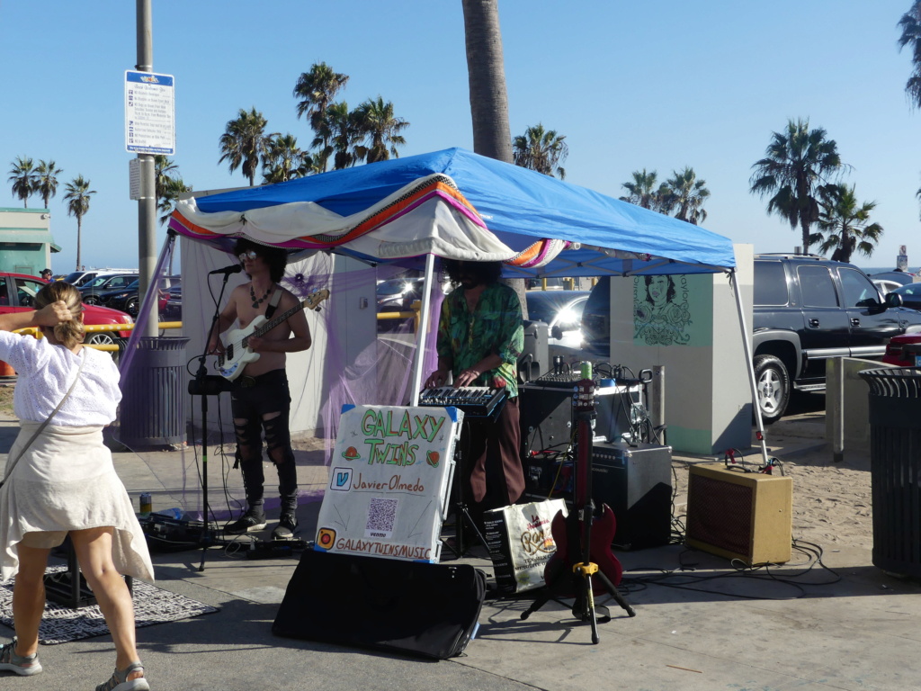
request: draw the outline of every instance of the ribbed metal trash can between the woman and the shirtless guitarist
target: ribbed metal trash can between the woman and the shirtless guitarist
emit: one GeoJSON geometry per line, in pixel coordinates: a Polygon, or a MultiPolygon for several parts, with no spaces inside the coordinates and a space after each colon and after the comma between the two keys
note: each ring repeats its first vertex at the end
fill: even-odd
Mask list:
{"type": "Polygon", "coordinates": [[[122,384],[119,441],[134,451],[180,444],[185,439],[185,391],[181,336],[142,336],[122,384]]]}

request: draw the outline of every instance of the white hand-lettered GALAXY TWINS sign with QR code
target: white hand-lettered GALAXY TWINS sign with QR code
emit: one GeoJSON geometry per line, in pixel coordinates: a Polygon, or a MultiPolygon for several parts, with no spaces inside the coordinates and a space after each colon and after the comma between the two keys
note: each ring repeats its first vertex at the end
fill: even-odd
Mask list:
{"type": "Polygon", "coordinates": [[[344,406],[315,549],[437,562],[457,408],[344,406]]]}

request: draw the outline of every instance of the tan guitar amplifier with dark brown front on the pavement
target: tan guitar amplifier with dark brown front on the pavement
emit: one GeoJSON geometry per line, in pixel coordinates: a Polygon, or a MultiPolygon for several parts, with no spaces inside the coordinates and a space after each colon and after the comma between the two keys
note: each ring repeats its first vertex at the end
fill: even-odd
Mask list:
{"type": "Polygon", "coordinates": [[[692,465],[686,522],[689,547],[749,566],[783,564],[792,556],[793,479],[692,465]]]}

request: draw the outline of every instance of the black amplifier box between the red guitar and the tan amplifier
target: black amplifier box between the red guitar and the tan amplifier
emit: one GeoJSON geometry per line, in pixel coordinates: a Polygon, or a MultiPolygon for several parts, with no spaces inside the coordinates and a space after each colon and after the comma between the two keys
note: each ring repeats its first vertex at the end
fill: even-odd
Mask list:
{"type": "Polygon", "coordinates": [[[671,447],[621,442],[592,447],[591,495],[617,519],[613,545],[644,549],[671,539],[671,447]]]}

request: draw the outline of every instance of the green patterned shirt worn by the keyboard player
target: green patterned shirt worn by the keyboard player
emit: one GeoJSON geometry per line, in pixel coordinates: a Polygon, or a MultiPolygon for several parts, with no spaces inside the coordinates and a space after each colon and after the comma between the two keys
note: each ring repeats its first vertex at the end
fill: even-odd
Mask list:
{"type": "Polygon", "coordinates": [[[455,378],[487,355],[502,358],[497,369],[481,374],[471,386],[505,388],[509,398],[518,395],[518,358],[524,349],[524,326],[518,294],[502,283],[483,291],[476,309],[467,310],[464,289],[456,287],[441,305],[438,322],[438,357],[451,357],[455,378]]]}

